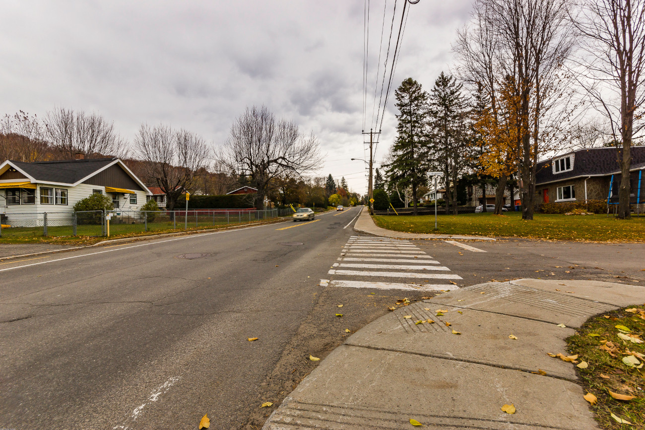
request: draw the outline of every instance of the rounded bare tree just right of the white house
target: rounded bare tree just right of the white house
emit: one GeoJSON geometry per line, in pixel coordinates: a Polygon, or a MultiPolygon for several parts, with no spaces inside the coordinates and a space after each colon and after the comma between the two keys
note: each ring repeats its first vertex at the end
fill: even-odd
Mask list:
{"type": "Polygon", "coordinates": [[[168,209],[175,209],[179,196],[192,190],[198,172],[206,167],[209,148],[204,139],[188,130],[143,124],[134,141],[148,180],[166,194],[168,209]]]}

